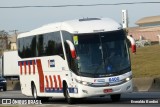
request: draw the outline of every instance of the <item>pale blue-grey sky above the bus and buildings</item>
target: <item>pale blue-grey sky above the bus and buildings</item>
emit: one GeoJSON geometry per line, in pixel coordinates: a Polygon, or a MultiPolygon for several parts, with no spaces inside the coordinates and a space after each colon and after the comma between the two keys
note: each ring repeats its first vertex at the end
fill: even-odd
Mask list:
{"type": "MultiPolygon", "coordinates": [[[[130,2],[160,2],[160,0],[0,0],[4,6],[54,6],[76,4],[110,4],[130,2]]],[[[159,4],[106,5],[92,7],[54,7],[54,8],[0,8],[0,30],[26,32],[42,25],[81,19],[86,17],[109,17],[122,23],[123,9],[128,10],[129,27],[143,17],[160,15],[159,4]]]]}

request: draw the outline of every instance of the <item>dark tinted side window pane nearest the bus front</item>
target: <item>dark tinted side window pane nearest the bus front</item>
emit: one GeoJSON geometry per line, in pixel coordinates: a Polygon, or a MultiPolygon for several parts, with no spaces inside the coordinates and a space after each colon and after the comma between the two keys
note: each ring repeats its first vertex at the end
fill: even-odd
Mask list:
{"type": "Polygon", "coordinates": [[[38,36],[38,56],[63,55],[59,32],[47,33],[38,36]]]}

